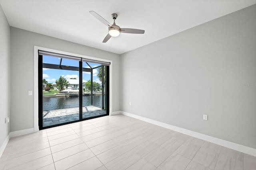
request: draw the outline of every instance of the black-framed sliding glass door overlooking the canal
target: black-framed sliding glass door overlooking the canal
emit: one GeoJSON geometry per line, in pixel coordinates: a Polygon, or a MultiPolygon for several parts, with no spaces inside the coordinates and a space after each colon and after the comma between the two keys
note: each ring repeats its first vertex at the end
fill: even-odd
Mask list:
{"type": "Polygon", "coordinates": [[[58,54],[38,57],[39,129],[109,114],[109,66],[58,54]]]}

